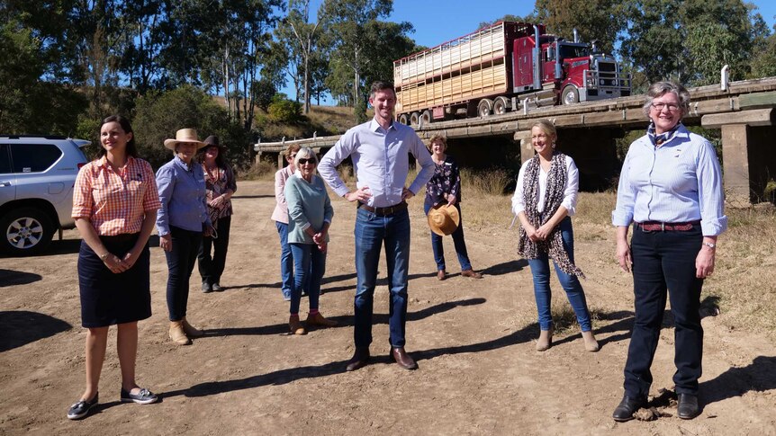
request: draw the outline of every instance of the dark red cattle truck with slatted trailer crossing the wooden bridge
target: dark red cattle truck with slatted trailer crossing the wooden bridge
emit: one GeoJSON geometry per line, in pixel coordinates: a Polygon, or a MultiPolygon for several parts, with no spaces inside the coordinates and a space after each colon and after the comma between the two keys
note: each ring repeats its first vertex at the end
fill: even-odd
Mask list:
{"type": "Polygon", "coordinates": [[[497,22],[396,60],[393,85],[397,119],[415,126],[630,95],[630,75],[595,42],[526,22],[497,22]]]}

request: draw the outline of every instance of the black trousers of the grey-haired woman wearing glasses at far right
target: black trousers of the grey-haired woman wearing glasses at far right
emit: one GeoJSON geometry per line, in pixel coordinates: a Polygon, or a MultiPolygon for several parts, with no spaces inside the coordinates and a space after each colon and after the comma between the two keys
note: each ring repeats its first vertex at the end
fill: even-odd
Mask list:
{"type": "Polygon", "coordinates": [[[625,392],[645,398],[652,385],[650,367],[660,338],[666,297],[674,319],[677,394],[698,395],[703,328],[700,325],[700,289],[695,258],[703,244],[700,226],[691,230],[645,232],[634,227],[631,239],[636,322],[627,350],[625,392]]]}

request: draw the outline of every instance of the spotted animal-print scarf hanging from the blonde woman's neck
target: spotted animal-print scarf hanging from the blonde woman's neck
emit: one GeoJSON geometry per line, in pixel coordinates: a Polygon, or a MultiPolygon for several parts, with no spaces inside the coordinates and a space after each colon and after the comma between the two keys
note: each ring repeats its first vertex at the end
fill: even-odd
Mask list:
{"type": "MultiPolygon", "coordinates": [[[[547,187],[545,192],[545,210],[537,211],[539,200],[539,171],[541,164],[539,156],[534,156],[526,165],[526,173],[523,178],[523,200],[526,204],[526,218],[531,226],[541,227],[549,218],[555,215],[564,200],[564,191],[568,174],[566,172],[566,156],[563,153],[553,153],[550,162],[550,171],[547,174],[547,187]]],[[[546,253],[553,258],[558,268],[566,274],[585,278],[582,270],[569,260],[569,255],[564,247],[560,226],[555,226],[545,241],[533,242],[528,238],[526,230],[520,226],[520,239],[518,253],[526,259],[537,259],[539,254],[546,253]]]]}

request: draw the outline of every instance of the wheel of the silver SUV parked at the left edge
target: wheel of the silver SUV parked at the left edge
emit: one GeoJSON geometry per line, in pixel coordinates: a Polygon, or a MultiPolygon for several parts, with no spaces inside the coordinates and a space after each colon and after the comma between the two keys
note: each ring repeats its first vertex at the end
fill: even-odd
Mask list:
{"type": "Polygon", "coordinates": [[[0,218],[2,248],[7,254],[30,256],[46,248],[54,236],[51,220],[40,209],[20,208],[0,218]]]}

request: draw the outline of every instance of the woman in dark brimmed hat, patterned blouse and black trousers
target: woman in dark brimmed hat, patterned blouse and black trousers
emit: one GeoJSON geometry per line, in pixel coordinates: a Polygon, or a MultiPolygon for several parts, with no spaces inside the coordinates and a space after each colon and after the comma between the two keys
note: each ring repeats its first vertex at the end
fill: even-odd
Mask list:
{"type": "Polygon", "coordinates": [[[203,236],[199,250],[199,273],[203,292],[221,291],[221,274],[226,264],[231,227],[231,196],[237,191],[237,182],[231,167],[223,158],[226,147],[221,147],[216,136],[204,140],[205,147],[197,159],[204,170],[207,211],[215,232],[203,236]],[[211,254],[212,252],[212,254],[211,254]]]}

